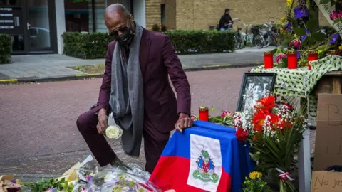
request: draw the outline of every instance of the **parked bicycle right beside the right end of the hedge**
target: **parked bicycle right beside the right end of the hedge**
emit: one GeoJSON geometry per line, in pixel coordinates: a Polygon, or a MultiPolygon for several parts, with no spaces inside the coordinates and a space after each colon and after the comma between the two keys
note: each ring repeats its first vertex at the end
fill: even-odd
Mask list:
{"type": "Polygon", "coordinates": [[[259,28],[252,28],[251,33],[249,32],[249,27],[252,26],[252,24],[246,24],[242,23],[245,27],[245,33],[242,32],[242,28],[237,28],[237,48],[242,49],[247,46],[247,42],[252,43],[252,45],[255,45],[257,48],[263,48],[264,47],[264,38],[260,32],[259,28]]]}

